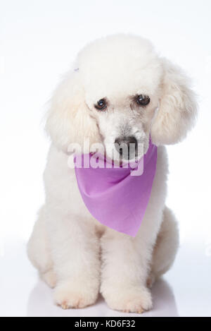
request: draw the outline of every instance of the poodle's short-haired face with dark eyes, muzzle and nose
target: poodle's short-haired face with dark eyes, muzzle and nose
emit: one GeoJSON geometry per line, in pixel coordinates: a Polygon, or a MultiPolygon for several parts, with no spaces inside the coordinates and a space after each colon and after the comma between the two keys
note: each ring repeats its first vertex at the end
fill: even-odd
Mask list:
{"type": "Polygon", "coordinates": [[[110,159],[137,160],[147,151],[154,110],[148,102],[148,96],[128,95],[120,100],[106,97],[93,105],[91,116],[110,159]]]}

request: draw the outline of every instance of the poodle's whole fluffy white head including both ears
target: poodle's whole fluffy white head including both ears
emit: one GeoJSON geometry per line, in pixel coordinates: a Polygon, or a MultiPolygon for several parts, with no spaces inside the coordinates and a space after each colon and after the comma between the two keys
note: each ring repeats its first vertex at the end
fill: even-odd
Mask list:
{"type": "Polygon", "coordinates": [[[89,138],[103,143],[114,160],[140,158],[150,137],[160,145],[186,136],[196,116],[188,85],[181,69],[160,58],[147,40],[106,37],[78,54],[52,97],[46,130],[65,152],[70,143],[89,138]]]}

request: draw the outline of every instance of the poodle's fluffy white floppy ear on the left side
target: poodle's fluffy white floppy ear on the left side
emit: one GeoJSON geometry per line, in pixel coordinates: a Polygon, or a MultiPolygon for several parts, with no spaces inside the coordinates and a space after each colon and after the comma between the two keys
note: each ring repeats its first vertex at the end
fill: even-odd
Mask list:
{"type": "Polygon", "coordinates": [[[79,72],[71,71],[53,93],[46,119],[46,132],[54,145],[67,152],[70,143],[98,141],[96,122],[89,116],[79,72]]]}

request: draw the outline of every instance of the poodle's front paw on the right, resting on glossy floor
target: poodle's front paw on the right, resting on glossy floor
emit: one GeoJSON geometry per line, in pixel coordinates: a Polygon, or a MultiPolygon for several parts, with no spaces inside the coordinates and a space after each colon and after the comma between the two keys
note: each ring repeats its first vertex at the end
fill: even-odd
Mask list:
{"type": "Polygon", "coordinates": [[[102,291],[106,303],[115,311],[143,313],[152,308],[151,291],[146,287],[118,287],[102,291]]]}

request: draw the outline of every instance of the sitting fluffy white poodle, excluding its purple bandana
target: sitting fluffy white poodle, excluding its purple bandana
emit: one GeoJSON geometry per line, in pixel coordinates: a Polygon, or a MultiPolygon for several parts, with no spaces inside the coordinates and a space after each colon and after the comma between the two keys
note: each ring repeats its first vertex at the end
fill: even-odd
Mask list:
{"type": "MultiPolygon", "coordinates": [[[[167,154],[194,124],[196,97],[180,68],[147,40],[114,35],[89,44],[51,99],[46,131],[51,148],[44,171],[46,201],[27,252],[62,308],[95,303],[99,291],[117,311],[152,308],[150,287],[169,270],[179,246],[177,222],[165,206],[167,154]],[[135,237],[91,216],[68,167],[71,143],[103,143],[108,156],[119,137],[133,137],[158,160],[151,197],[135,237]]],[[[126,137],[126,138],[125,138],[126,137]]],[[[87,152],[89,152],[87,150],[87,152]]],[[[141,157],[142,155],[139,155],[141,157]]]]}

